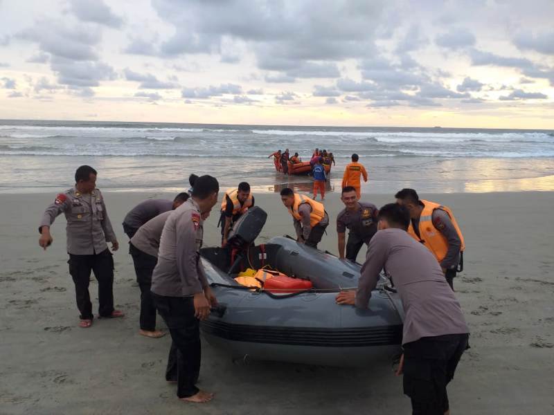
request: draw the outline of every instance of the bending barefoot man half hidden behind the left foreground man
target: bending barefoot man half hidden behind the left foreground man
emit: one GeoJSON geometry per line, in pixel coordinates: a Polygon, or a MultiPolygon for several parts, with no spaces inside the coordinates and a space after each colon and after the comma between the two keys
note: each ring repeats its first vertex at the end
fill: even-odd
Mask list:
{"type": "MultiPolygon", "coordinates": [[[[188,193],[179,193],[173,201],[173,209],[179,208],[188,199],[188,193]]],[[[150,294],[152,272],[158,262],[161,231],[172,210],[150,219],[136,231],[129,241],[129,253],[133,257],[136,282],[141,288],[141,329],[139,333],[150,338],[161,338],[164,331],[156,330],[156,306],[150,294]]]]}

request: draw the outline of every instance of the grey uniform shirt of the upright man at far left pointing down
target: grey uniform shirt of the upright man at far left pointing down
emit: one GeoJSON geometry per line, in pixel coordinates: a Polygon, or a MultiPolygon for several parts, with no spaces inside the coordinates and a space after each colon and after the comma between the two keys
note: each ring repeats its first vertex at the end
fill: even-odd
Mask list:
{"type": "Polygon", "coordinates": [[[73,187],[58,194],[44,211],[39,232],[42,233],[43,226],[51,226],[62,213],[67,221],[66,243],[69,254],[99,254],[107,249],[106,241],[117,241],[100,190],[82,194],[73,187]]]}

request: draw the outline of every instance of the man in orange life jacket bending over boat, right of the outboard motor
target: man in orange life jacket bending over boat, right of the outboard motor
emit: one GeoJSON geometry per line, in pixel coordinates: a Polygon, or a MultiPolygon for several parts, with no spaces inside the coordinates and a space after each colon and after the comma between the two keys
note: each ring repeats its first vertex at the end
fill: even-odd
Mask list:
{"type": "Polygon", "coordinates": [[[325,228],[329,225],[329,215],[325,212],[323,203],[294,193],[289,187],[281,190],[281,201],[294,219],[298,243],[317,248],[325,228]]]}

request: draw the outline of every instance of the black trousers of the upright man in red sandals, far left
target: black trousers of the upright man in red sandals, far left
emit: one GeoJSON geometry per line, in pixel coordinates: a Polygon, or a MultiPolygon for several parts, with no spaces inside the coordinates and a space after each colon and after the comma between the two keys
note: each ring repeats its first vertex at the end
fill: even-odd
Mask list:
{"type": "Polygon", "coordinates": [[[109,249],[94,255],[69,254],[69,274],[75,283],[75,297],[81,319],[92,319],[92,303],[89,295],[91,270],[98,280],[98,314],[109,317],[114,311],[114,258],[109,249]]]}

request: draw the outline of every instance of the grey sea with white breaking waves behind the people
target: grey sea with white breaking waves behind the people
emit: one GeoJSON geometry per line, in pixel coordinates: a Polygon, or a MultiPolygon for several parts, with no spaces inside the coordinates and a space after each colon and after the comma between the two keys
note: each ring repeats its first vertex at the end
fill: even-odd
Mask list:
{"type": "Polygon", "coordinates": [[[0,192],[57,192],[83,164],[107,191],[178,192],[195,173],[223,189],[309,192],[309,177],[284,176],[267,157],[289,148],[309,160],[315,147],[337,163],[328,191],[352,153],[370,176],[364,193],[554,190],[554,131],[0,120],[0,192]]]}

